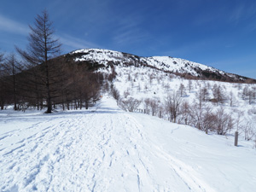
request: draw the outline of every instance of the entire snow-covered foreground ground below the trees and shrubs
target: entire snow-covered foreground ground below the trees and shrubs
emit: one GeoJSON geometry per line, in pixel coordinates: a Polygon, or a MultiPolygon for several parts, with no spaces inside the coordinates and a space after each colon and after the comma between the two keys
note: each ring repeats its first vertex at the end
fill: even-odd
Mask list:
{"type": "Polygon", "coordinates": [[[1,191],[255,191],[256,150],[104,96],[88,111],[0,112],[1,191]]]}

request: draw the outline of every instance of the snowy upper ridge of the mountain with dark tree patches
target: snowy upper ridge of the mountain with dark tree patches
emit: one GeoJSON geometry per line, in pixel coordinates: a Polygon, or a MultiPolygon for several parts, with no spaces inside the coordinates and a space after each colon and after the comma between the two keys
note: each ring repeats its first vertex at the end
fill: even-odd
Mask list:
{"type": "Polygon", "coordinates": [[[174,58],[171,56],[141,57],[108,49],[79,49],[64,55],[68,60],[86,62],[90,67],[144,66],[154,67],[166,73],[175,73],[188,79],[212,79],[227,82],[256,82],[233,73],[226,73],[214,67],[174,58]]]}

